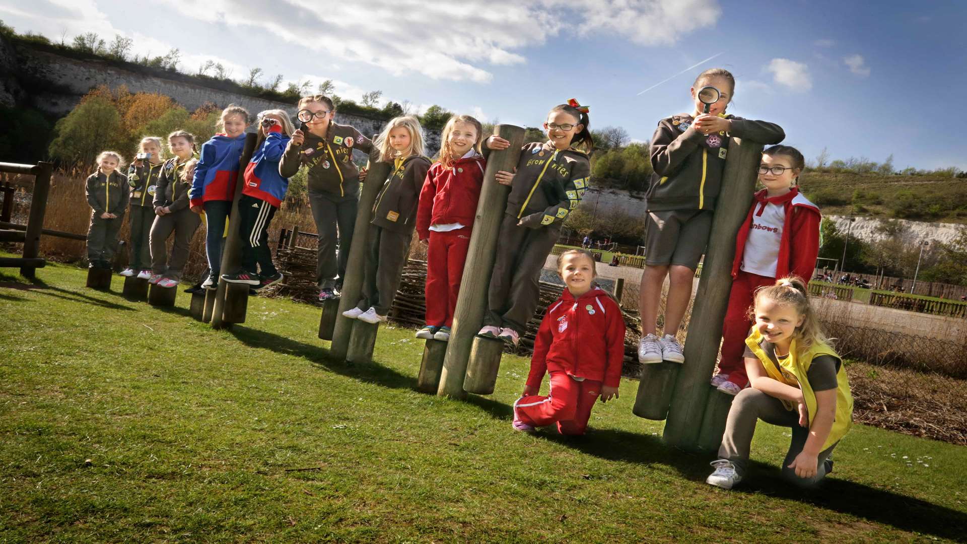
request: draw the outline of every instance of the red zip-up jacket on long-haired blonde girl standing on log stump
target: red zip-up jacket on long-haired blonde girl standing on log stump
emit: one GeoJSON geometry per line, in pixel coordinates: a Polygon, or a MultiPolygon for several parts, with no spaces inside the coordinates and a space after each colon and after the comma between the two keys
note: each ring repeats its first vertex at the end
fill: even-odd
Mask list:
{"type": "Polygon", "coordinates": [[[468,231],[473,227],[485,167],[486,160],[474,150],[449,168],[439,162],[429,167],[417,207],[417,234],[421,240],[429,238],[432,225],[459,223],[468,231]]]}

